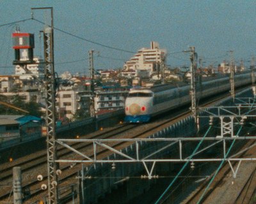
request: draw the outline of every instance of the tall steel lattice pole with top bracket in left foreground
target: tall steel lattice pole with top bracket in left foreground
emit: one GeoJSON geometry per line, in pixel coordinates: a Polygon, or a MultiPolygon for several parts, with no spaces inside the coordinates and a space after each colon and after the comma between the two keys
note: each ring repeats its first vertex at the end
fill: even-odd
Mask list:
{"type": "MultiPolygon", "coordinates": [[[[46,125],[47,125],[47,171],[48,171],[48,203],[58,203],[58,177],[56,175],[56,123],[55,95],[56,80],[54,71],[54,26],[53,8],[31,8],[31,10],[51,10],[51,27],[44,29],[44,58],[46,88],[46,125]]],[[[33,14],[33,13],[32,13],[33,14]]]]}

